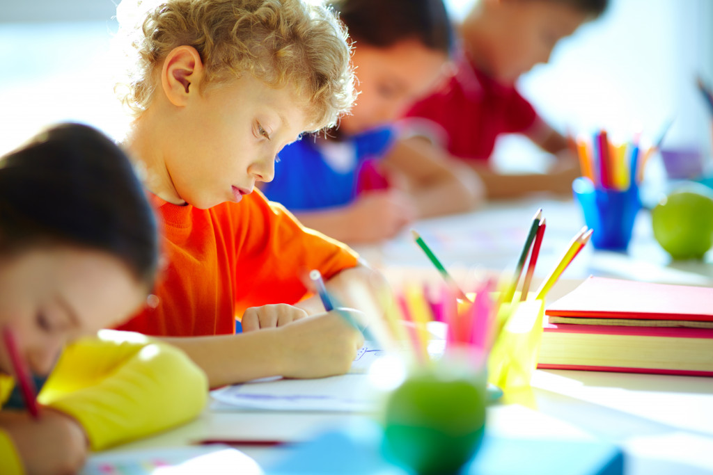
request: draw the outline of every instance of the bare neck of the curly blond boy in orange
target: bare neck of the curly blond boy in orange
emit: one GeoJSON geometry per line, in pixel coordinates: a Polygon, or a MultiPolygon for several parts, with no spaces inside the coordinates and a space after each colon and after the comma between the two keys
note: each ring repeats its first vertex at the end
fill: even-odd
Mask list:
{"type": "Polygon", "coordinates": [[[160,140],[167,135],[161,133],[152,123],[150,110],[147,110],[140,118],[133,121],[123,145],[128,148],[130,155],[140,163],[140,168],[145,172],[145,176],[141,178],[148,191],[165,202],[186,204],[176,192],[166,168],[163,156],[165,148],[160,140]]]}

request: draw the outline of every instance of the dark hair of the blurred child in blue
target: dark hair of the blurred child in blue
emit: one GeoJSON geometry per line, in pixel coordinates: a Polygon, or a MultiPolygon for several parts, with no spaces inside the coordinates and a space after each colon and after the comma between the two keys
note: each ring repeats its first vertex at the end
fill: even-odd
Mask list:
{"type": "Polygon", "coordinates": [[[333,0],[332,5],[357,45],[386,48],[413,39],[446,54],[453,48],[453,26],[442,0],[333,0]]]}

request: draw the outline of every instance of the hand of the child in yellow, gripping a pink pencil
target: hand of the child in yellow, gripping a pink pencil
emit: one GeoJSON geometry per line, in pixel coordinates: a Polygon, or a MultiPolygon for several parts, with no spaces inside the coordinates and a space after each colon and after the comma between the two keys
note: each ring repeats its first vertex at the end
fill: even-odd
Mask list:
{"type": "Polygon", "coordinates": [[[76,420],[43,407],[40,419],[7,414],[1,427],[10,435],[28,475],[74,474],[84,464],[87,440],[76,420]]]}

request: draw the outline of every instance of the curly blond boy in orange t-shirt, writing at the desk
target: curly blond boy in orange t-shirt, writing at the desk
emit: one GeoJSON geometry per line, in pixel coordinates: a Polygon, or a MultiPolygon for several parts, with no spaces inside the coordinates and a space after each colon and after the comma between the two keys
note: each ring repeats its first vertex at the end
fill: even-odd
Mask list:
{"type": "Polygon", "coordinates": [[[168,337],[211,387],[346,372],[363,338],[301,300],[307,275],[318,269],[348,305],[349,286],[379,276],[254,191],[284,145],[352,105],[344,28],[301,0],[137,3],[117,11],[133,58],[120,89],[135,116],[125,145],[163,221],[167,267],[156,305],[121,328],[168,337]]]}

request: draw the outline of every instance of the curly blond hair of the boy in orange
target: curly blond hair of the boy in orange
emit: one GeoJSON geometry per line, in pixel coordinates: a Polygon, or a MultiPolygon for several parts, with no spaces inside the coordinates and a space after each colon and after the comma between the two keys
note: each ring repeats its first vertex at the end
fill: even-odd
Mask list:
{"type": "Polygon", "coordinates": [[[200,54],[205,83],[250,73],[296,88],[310,130],[334,125],[354,102],[347,32],[318,1],[123,0],[116,13],[128,64],[115,90],[135,116],[158,87],[157,68],[183,45],[200,54]]]}

